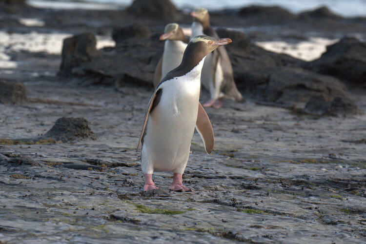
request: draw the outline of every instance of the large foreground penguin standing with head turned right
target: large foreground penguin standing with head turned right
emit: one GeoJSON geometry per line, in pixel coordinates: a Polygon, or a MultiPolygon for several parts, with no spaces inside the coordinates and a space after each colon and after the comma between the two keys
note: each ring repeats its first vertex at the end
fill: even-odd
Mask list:
{"type": "Polygon", "coordinates": [[[214,147],[210,120],[199,102],[201,71],[205,56],[228,38],[193,38],[184,51],[182,63],[170,71],[155,88],[143,122],[137,149],[142,143],[141,166],[144,191],[158,189],[152,181],[154,171],[172,171],[169,190],[191,191],[182,184],[194,128],[203,139],[206,152],[214,147]]]}

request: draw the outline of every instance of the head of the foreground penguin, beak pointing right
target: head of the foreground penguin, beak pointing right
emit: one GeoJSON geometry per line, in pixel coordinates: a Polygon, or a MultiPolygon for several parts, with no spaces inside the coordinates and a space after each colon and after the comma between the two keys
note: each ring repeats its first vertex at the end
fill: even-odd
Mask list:
{"type": "Polygon", "coordinates": [[[216,48],[229,44],[229,38],[212,38],[208,36],[197,36],[189,41],[183,54],[182,63],[198,64],[203,58],[216,48]]]}

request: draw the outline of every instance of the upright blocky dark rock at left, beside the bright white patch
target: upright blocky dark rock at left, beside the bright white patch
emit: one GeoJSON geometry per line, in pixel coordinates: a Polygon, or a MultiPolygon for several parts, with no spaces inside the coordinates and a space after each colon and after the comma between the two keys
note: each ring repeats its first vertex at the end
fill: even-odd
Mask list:
{"type": "Polygon", "coordinates": [[[97,39],[93,33],[83,33],[63,40],[60,74],[69,74],[74,67],[98,56],[97,39]]]}

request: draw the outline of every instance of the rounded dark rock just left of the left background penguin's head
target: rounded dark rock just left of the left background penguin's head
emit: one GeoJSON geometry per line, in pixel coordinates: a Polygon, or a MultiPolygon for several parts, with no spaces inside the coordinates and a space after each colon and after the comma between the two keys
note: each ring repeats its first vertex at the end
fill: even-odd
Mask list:
{"type": "Polygon", "coordinates": [[[140,23],[114,28],[112,33],[112,38],[116,43],[120,43],[131,38],[145,39],[150,36],[150,30],[140,23]]]}

